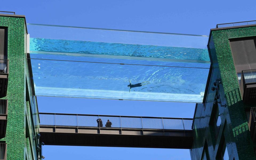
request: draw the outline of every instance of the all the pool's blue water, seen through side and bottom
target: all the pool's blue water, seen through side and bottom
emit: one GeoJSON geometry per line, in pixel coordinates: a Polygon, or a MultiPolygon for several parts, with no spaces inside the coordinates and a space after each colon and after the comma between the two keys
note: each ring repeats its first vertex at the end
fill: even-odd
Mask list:
{"type": "Polygon", "coordinates": [[[30,54],[35,58],[31,59],[35,92],[41,96],[200,103],[209,73],[209,64],[54,53],[209,61],[204,49],[31,38],[30,50],[43,53],[30,54]],[[132,84],[149,84],[129,92],[129,79],[132,84]]]}

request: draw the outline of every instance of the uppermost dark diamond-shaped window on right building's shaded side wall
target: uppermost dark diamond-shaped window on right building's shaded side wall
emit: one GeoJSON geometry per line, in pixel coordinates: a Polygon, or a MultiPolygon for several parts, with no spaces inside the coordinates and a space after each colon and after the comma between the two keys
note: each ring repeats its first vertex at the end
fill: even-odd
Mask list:
{"type": "Polygon", "coordinates": [[[211,118],[209,123],[213,146],[215,146],[215,142],[219,133],[220,126],[221,126],[221,115],[219,114],[218,103],[216,103],[213,105],[213,110],[211,111],[211,118]]]}

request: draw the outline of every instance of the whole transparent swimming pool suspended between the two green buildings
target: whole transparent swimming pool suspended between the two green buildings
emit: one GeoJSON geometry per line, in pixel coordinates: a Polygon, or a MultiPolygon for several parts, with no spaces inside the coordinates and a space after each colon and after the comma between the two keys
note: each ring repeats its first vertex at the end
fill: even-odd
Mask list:
{"type": "Polygon", "coordinates": [[[43,27],[30,35],[37,96],[202,102],[208,37],[35,27],[43,27]],[[129,92],[129,79],[147,83],[129,92]]]}

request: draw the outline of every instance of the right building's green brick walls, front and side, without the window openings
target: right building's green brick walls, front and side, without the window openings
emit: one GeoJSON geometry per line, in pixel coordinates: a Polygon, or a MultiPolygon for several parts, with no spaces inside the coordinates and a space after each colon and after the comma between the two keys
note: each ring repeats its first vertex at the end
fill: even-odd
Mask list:
{"type": "Polygon", "coordinates": [[[213,82],[216,79],[221,78],[222,84],[219,86],[220,99],[222,104],[227,106],[224,107],[218,104],[221,126],[215,146],[211,138],[209,121],[216,91],[209,89],[205,105],[199,104],[197,106],[193,125],[194,143],[190,150],[191,159],[201,160],[205,141],[207,141],[210,159],[215,159],[222,134],[225,136],[230,159],[256,159],[255,144],[250,137],[245,113],[245,109],[255,107],[256,104],[245,105],[241,99],[229,44],[230,38],[250,36],[256,36],[255,26],[211,31],[208,50],[213,65],[213,73],[209,88],[213,87],[213,82]]]}

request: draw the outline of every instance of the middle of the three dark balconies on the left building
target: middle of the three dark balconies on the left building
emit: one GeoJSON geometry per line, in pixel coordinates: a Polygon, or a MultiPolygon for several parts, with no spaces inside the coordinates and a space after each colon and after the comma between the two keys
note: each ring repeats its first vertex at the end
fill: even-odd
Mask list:
{"type": "Polygon", "coordinates": [[[5,137],[7,126],[8,100],[0,99],[0,138],[5,137]]]}

